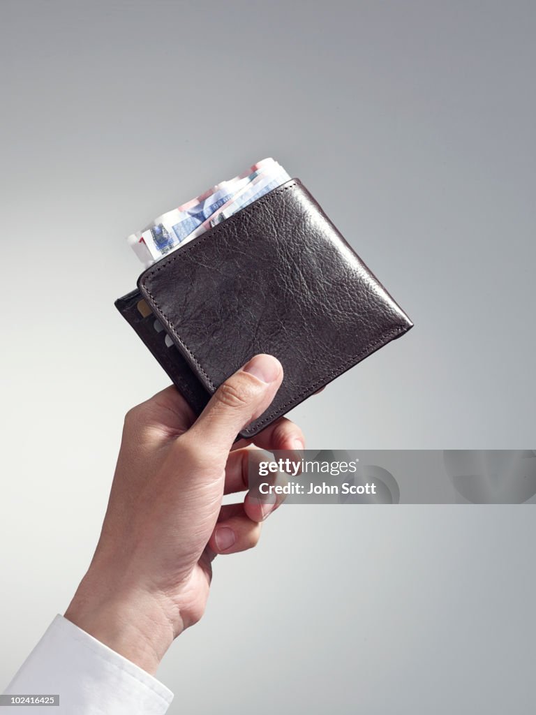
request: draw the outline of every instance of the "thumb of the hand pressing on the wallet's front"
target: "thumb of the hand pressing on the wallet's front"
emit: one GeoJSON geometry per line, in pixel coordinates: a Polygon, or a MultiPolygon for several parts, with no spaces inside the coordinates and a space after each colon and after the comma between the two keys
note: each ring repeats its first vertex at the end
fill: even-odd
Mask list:
{"type": "Polygon", "coordinates": [[[216,390],[189,433],[227,452],[242,428],[262,415],[283,380],[281,363],[273,355],[255,355],[216,390]]]}

